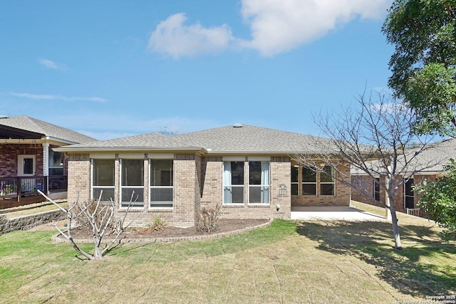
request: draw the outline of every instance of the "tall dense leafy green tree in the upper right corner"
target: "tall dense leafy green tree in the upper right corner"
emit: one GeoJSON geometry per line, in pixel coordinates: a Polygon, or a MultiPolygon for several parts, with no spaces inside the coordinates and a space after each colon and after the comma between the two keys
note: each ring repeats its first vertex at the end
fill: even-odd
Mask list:
{"type": "Polygon", "coordinates": [[[414,131],[454,135],[456,0],[395,0],[382,31],[395,46],[388,85],[418,115],[414,131]]]}

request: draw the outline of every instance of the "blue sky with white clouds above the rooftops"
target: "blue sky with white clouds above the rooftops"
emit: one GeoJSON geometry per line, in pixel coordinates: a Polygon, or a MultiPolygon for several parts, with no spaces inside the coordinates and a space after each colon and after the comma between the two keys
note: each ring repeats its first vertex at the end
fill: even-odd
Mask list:
{"type": "Polygon", "coordinates": [[[390,4],[4,0],[0,115],[99,140],[234,123],[319,135],[314,114],[387,89],[390,4]]]}

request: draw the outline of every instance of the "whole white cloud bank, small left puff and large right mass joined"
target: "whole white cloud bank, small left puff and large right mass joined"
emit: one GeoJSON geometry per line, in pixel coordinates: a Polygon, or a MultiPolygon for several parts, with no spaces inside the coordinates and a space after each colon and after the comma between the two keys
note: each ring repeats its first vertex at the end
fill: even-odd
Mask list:
{"type": "Polygon", "coordinates": [[[228,47],[257,50],[274,56],[310,43],[356,18],[385,16],[392,0],[242,0],[241,13],[252,31],[251,40],[232,36],[226,24],[204,28],[184,25],[185,14],[158,24],[148,48],[173,58],[224,51],[228,47]]]}

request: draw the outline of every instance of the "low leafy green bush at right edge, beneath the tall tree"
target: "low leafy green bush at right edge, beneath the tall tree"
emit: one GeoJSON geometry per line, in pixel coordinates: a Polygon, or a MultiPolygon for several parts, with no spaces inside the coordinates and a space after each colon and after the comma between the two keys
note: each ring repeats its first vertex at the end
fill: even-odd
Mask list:
{"type": "Polygon", "coordinates": [[[427,218],[437,221],[444,230],[445,241],[456,240],[456,162],[454,159],[445,166],[447,176],[436,182],[425,180],[415,186],[420,194],[418,206],[423,208],[427,218]]]}

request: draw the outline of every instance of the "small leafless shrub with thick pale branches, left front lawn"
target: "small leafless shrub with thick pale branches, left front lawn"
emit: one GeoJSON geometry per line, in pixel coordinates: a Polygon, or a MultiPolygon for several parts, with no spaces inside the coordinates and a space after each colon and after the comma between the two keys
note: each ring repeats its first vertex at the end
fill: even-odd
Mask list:
{"type": "Polygon", "coordinates": [[[38,190],[38,192],[52,204],[58,206],[58,209],[61,209],[61,211],[66,213],[68,219],[67,230],[65,232],[62,231],[60,228],[58,228],[57,224],[54,224],[54,226],[58,232],[60,232],[60,234],[71,243],[71,246],[73,246],[73,248],[78,251],[78,253],[81,253],[89,260],[103,258],[103,256],[105,256],[105,254],[108,253],[111,248],[113,248],[114,243],[118,241],[120,235],[123,234],[125,229],[127,229],[128,226],[130,226],[133,221],[135,221],[135,219],[137,219],[140,215],[138,214],[135,219],[124,226],[125,218],[128,214],[128,211],[130,210],[130,206],[132,206],[131,203],[133,201],[134,193],[132,194],[130,204],[128,206],[128,209],[125,211],[123,219],[115,222],[114,202],[111,199],[109,204],[106,204],[104,202],[102,203],[101,196],[103,192],[100,193],[100,197],[98,197],[98,199],[93,199],[91,201],[81,201],[78,198],[76,200],[76,203],[68,206],[68,208],[63,208],[48,196],[46,196],[46,194],[43,194],[43,192],[40,190],[38,190]],[[92,231],[94,245],[93,254],[83,251],[83,249],[81,249],[81,247],[79,247],[74,241],[71,234],[71,229],[74,228],[75,221],[78,222],[79,225],[83,224],[86,229],[90,229],[92,231]],[[107,234],[113,234],[114,236],[108,243],[105,244],[104,248],[102,248],[103,237],[107,234]]]}

